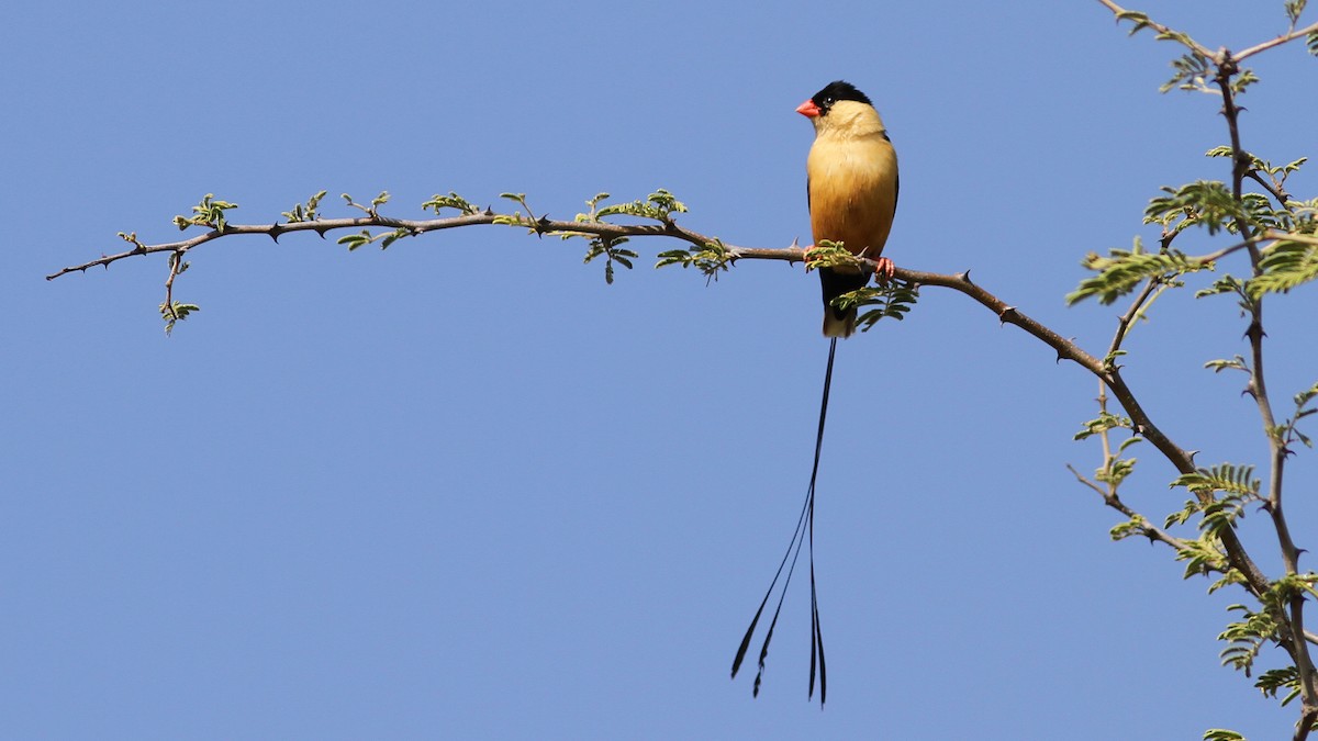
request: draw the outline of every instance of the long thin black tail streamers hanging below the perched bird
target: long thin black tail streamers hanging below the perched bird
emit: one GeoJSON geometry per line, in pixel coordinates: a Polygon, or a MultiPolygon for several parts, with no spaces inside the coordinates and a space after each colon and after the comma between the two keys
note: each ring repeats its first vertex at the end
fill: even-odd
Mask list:
{"type": "Polygon", "coordinates": [[[737,658],[733,659],[733,678],[737,676],[737,670],[741,668],[742,659],[746,658],[746,649],[750,647],[750,638],[755,634],[755,625],[759,624],[759,617],[764,613],[764,605],[768,604],[768,597],[774,595],[774,588],[778,585],[778,579],[783,575],[783,568],[787,567],[787,578],[783,580],[783,591],[778,596],[778,605],[774,608],[774,620],[768,624],[768,633],[764,634],[764,646],[759,650],[759,670],[755,672],[755,686],[751,688],[754,696],[759,696],[759,684],[764,678],[764,658],[768,657],[768,642],[774,639],[774,628],[778,625],[778,614],[783,612],[783,599],[787,597],[787,587],[792,583],[792,572],[796,571],[796,558],[801,555],[801,546],[809,541],[809,556],[811,556],[811,690],[808,697],[815,697],[815,671],[816,663],[818,665],[818,678],[820,678],[820,708],[824,707],[824,699],[828,694],[828,671],[824,666],[824,633],[820,629],[820,608],[818,608],[818,589],[815,585],[815,480],[818,477],[820,472],[820,451],[824,448],[824,419],[828,417],[828,392],[829,386],[833,385],[833,355],[837,353],[837,338],[828,345],[828,369],[824,372],[824,400],[820,402],[820,429],[815,436],[815,465],[811,468],[811,485],[805,490],[805,504],[801,506],[801,514],[796,518],[796,530],[792,531],[792,539],[787,543],[787,552],[783,554],[783,560],[778,564],[778,572],[774,574],[774,580],[768,584],[768,591],[764,592],[764,599],[759,603],[759,609],[755,610],[755,617],[750,621],[750,628],[746,629],[746,637],[742,638],[741,646],[737,647],[737,658]],[[788,558],[791,558],[791,566],[787,566],[788,558]]]}

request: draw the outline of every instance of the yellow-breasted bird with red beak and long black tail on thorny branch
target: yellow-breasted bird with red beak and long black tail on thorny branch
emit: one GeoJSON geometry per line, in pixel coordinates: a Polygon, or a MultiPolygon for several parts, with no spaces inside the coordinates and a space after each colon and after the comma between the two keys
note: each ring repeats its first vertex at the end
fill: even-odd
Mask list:
{"type": "MultiPolygon", "coordinates": [[[[811,120],[815,127],[815,144],[805,160],[805,195],[811,214],[813,248],[828,240],[841,243],[847,252],[875,262],[875,274],[891,281],[896,268],[892,260],[883,257],[883,247],[892,231],[892,220],[898,207],[898,156],[888,138],[887,127],[874,108],[869,96],[846,80],[834,80],[801,103],[796,112],[811,120]]],[[[809,251],[807,248],[807,260],[809,251]]],[[[774,628],[787,597],[787,587],[796,571],[796,559],[801,547],[809,543],[811,560],[811,676],[808,697],[815,696],[815,679],[818,676],[820,707],[828,692],[828,674],[824,662],[824,633],[820,628],[818,591],[815,580],[815,483],[818,477],[820,454],[824,447],[824,421],[828,417],[829,388],[833,384],[833,359],[837,353],[837,340],[855,332],[855,307],[838,309],[833,306],[837,297],[865,287],[870,281],[867,270],[847,266],[821,266],[820,285],[824,295],[824,336],[829,338],[828,367],[824,372],[824,398],[820,403],[818,431],[815,438],[815,463],[811,469],[811,483],[805,502],[796,519],[796,530],[787,545],[787,552],[778,564],[778,572],[764,593],[764,599],[751,618],[750,628],[737,647],[733,658],[733,678],[741,668],[750,641],[755,634],[759,618],[764,613],[778,580],[783,588],[778,597],[774,618],[768,624],[764,643],[759,653],[759,670],[755,674],[753,695],[759,696],[764,675],[764,659],[768,657],[768,643],[774,638],[774,628]]]]}

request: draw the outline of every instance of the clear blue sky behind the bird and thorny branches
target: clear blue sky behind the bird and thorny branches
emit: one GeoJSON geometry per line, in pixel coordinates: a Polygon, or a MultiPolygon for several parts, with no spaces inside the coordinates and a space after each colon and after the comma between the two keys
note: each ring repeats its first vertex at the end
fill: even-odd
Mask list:
{"type": "MultiPolygon", "coordinates": [[[[666,187],[695,229],[786,247],[808,239],[792,108],[846,78],[902,161],[887,254],[971,269],[1101,352],[1115,314],[1062,305],[1081,256],[1151,235],[1159,186],[1224,177],[1214,100],[1159,95],[1174,47],[1093,0],[449,5],[7,11],[0,737],[1289,736],[1218,666],[1239,595],[1111,543],[1068,473],[1099,458],[1070,439],[1094,380],[960,294],[840,348],[821,713],[804,583],[760,697],[728,678],[809,473],[826,343],[800,265],[706,287],[643,257],[606,286],[584,245],[500,227],[232,239],[192,253],[177,298],[202,312],[169,339],[163,260],[42,280],[117,231],[174,239],[206,193],[260,223],[322,189],[332,215],[456,190],[572,218],[666,187]]],[[[1285,24],[1280,1],[1137,7],[1210,47],[1285,24]]],[[[1255,67],[1246,146],[1318,154],[1318,61],[1255,67]]],[[[1201,463],[1260,461],[1242,380],[1199,369],[1244,351],[1235,309],[1159,310],[1131,384],[1201,463]]],[[[1318,377],[1315,311],[1272,301],[1281,400],[1318,377]]],[[[1160,519],[1185,493],[1141,459],[1127,497],[1160,519]]],[[[1315,548],[1313,454],[1289,475],[1315,548]]],[[[1244,535],[1275,567],[1264,518],[1244,535]]]]}

